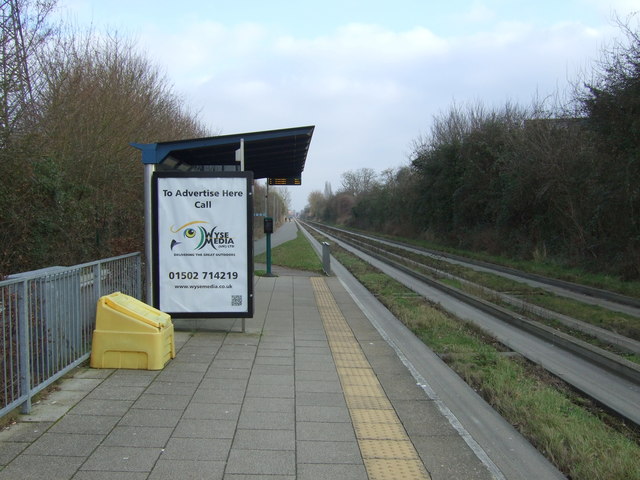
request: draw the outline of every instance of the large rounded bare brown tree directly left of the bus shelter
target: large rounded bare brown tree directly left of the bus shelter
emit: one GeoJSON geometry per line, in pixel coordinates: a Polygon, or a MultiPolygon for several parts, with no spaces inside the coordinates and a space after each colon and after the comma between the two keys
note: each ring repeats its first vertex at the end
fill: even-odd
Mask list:
{"type": "Polygon", "coordinates": [[[129,144],[206,130],[158,68],[118,35],[71,38],[50,53],[44,71],[43,148],[67,182],[70,208],[60,224],[75,217],[59,238],[83,239],[80,258],[139,247],[143,179],[129,144]]]}

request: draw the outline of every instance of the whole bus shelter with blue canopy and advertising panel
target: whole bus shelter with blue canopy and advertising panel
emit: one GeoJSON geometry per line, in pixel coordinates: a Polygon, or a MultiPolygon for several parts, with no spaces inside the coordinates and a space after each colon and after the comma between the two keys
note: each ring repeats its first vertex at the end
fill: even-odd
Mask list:
{"type": "Polygon", "coordinates": [[[145,169],[148,303],[184,318],[253,316],[253,180],[300,185],[314,128],[131,144],[145,169]]]}

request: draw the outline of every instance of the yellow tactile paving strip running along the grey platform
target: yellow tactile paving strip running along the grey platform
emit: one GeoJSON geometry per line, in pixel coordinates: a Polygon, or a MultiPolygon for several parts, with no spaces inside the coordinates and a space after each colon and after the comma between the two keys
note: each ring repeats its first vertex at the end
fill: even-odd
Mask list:
{"type": "Polygon", "coordinates": [[[370,480],[430,480],[324,278],[311,278],[370,480]]]}

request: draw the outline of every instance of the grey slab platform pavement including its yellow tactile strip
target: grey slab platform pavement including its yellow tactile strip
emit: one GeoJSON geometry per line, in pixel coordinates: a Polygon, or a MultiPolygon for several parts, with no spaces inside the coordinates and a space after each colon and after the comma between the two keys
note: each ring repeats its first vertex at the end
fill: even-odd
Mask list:
{"type": "Polygon", "coordinates": [[[491,478],[337,278],[255,293],[161,371],[76,370],[0,432],[0,480],[491,478]]]}

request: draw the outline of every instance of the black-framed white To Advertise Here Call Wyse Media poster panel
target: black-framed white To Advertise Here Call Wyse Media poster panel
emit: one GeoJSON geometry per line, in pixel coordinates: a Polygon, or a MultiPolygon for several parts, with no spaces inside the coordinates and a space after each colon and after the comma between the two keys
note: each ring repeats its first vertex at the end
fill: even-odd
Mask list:
{"type": "Polygon", "coordinates": [[[252,173],[156,172],[154,306],[253,316],[252,173]]]}

